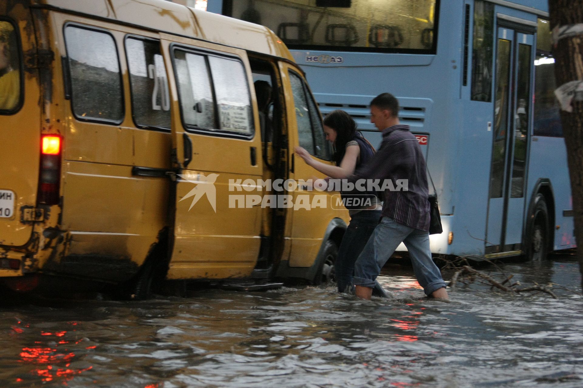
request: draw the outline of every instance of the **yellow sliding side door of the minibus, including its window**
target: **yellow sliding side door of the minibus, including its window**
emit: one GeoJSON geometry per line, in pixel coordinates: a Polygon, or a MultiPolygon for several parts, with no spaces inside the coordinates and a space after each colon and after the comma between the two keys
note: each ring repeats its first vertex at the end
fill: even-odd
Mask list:
{"type": "Polygon", "coordinates": [[[168,279],[247,277],[261,243],[261,136],[243,50],[161,34],[175,186],[168,279]],[[259,202],[257,199],[259,198],[259,202]]]}

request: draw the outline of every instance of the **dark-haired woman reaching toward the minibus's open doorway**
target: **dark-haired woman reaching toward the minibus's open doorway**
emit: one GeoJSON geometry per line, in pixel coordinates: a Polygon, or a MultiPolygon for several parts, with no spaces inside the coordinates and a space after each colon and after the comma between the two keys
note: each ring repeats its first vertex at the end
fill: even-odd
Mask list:
{"type": "MultiPolygon", "coordinates": [[[[332,143],[335,166],[316,161],[304,148],[296,147],[296,155],[321,173],[333,179],[352,175],[373,158],[374,148],[356,130],[356,123],[345,111],[333,111],[324,119],[326,140],[332,143]]],[[[359,257],[368,238],[381,218],[381,203],[377,196],[367,192],[342,193],[342,199],[350,213],[350,223],[338,249],[335,263],[338,291],[349,291],[352,286],[354,262],[359,257]],[[363,204],[349,205],[349,200],[363,200],[363,204]]]]}

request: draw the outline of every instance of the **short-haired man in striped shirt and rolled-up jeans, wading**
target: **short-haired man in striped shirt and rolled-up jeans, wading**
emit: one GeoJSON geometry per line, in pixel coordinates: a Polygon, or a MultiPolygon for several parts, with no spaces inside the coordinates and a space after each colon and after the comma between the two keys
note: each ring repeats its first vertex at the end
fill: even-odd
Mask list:
{"type": "Polygon", "coordinates": [[[417,138],[399,123],[399,102],[389,93],[370,103],[371,123],[382,131],[381,148],[367,165],[350,176],[359,179],[405,180],[408,190],[384,192],[381,222],[375,227],[354,267],[356,296],[370,299],[382,266],[402,242],[409,250],[417,282],[427,296],[447,299],[445,282],[429,248],[427,166],[417,138]]]}

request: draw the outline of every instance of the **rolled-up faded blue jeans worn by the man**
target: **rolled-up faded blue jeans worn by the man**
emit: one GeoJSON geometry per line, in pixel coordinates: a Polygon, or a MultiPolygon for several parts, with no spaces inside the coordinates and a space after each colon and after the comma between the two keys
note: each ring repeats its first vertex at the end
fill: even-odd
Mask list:
{"type": "Polygon", "coordinates": [[[445,287],[441,272],[431,259],[429,232],[401,225],[388,217],[382,218],[357,259],[353,283],[373,288],[382,266],[401,242],[409,250],[413,271],[425,294],[429,296],[445,287]]]}

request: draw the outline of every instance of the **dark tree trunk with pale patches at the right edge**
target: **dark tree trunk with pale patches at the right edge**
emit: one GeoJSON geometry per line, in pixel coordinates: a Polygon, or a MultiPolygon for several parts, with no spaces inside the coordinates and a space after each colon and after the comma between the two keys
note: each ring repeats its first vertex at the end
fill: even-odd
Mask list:
{"type": "MultiPolygon", "coordinates": [[[[583,23],[583,0],[549,0],[550,27],[583,23]]],[[[583,35],[561,39],[553,50],[557,87],[583,80],[583,35]]],[[[561,111],[571,195],[575,217],[575,241],[579,270],[583,275],[583,101],[573,101],[573,112],[561,111]]],[[[560,211],[560,209],[559,209],[560,211]]],[[[581,278],[583,287],[583,277],[581,278]]]]}

